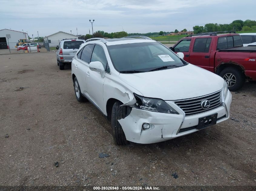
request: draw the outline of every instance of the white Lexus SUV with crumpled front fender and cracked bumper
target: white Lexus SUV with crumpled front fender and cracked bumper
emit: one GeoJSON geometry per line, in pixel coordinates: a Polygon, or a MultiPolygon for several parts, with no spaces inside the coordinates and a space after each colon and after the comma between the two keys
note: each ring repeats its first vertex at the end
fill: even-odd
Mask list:
{"type": "Polygon", "coordinates": [[[183,57],[148,37],[89,39],[71,64],[76,98],[111,120],[117,145],[166,141],[228,119],[227,83],[183,57]]]}

